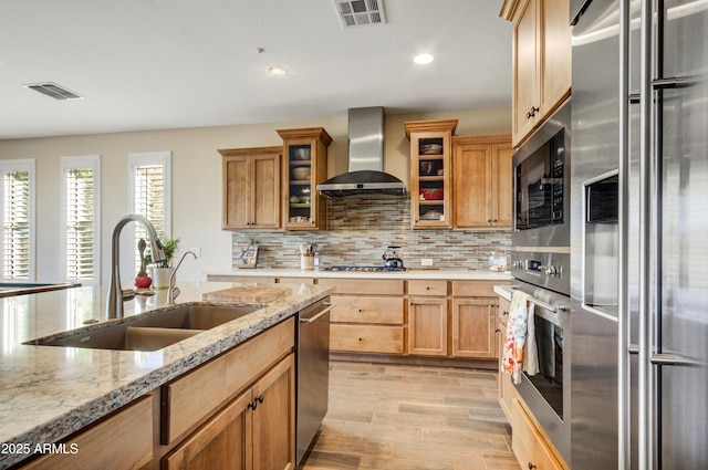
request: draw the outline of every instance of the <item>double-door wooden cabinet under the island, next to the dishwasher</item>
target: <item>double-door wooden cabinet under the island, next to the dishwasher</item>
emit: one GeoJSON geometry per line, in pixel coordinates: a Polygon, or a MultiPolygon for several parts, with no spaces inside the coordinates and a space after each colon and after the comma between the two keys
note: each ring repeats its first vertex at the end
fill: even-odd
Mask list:
{"type": "Polygon", "coordinates": [[[185,439],[164,470],[294,469],[294,355],[185,439]]]}

